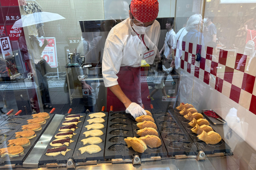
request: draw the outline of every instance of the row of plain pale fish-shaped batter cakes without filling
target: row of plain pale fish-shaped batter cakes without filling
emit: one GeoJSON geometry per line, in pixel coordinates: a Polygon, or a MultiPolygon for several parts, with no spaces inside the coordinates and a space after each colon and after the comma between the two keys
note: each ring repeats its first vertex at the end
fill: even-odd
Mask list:
{"type": "Polygon", "coordinates": [[[78,149],[81,152],[81,154],[84,154],[85,152],[87,152],[88,154],[95,154],[102,150],[96,144],[103,142],[100,136],[103,135],[101,129],[105,128],[105,126],[102,124],[105,122],[105,120],[102,117],[105,116],[106,114],[102,112],[92,113],[89,115],[90,119],[87,120],[89,125],[85,126],[85,128],[87,128],[87,131],[83,133],[85,135],[85,139],[81,140],[83,145],[86,145],[87,143],[89,145],[78,149]]]}

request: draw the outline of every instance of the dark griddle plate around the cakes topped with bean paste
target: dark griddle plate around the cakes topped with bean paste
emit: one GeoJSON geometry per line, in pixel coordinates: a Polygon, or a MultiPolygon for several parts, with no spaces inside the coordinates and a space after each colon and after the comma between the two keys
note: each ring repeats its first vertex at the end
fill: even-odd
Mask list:
{"type": "MultiPolygon", "coordinates": [[[[82,127],[83,127],[83,122],[84,122],[84,120],[85,120],[85,116],[86,116],[85,114],[79,114],[79,115],[81,115],[81,116],[83,116],[83,117],[81,117],[81,118],[79,119],[79,121],[81,121],[81,122],[79,122],[79,123],[76,125],[76,126],[78,127],[78,128],[74,131],[74,133],[76,133],[76,135],[74,135],[73,138],[71,138],[71,140],[73,140],[74,142],[71,142],[71,143],[69,144],[69,146],[67,147],[67,149],[71,149],[71,150],[69,150],[69,151],[66,153],[65,156],[63,156],[63,155],[61,155],[61,154],[60,154],[60,155],[57,155],[57,156],[46,156],[46,155],[45,155],[47,149],[54,148],[54,147],[52,147],[52,146],[50,145],[50,143],[51,143],[53,140],[56,139],[56,138],[54,138],[55,135],[56,135],[57,133],[60,133],[60,131],[59,131],[60,127],[61,127],[61,126],[66,126],[66,125],[62,125],[62,123],[63,123],[64,121],[67,121],[67,120],[65,120],[65,118],[66,118],[66,116],[67,116],[67,115],[66,115],[66,116],[63,117],[62,121],[60,122],[60,125],[58,126],[58,128],[57,128],[57,130],[56,130],[56,132],[53,134],[52,139],[50,140],[50,142],[48,143],[46,149],[44,150],[43,155],[42,155],[41,158],[39,159],[39,164],[40,164],[40,165],[42,165],[42,164],[50,164],[50,163],[66,164],[66,163],[67,163],[67,160],[72,157],[72,155],[73,155],[73,153],[74,153],[74,149],[75,149],[75,147],[76,147],[76,143],[77,143],[79,134],[80,134],[80,132],[81,132],[81,130],[82,130],[82,127]]],[[[63,132],[63,133],[65,133],[65,132],[63,132]]]]}

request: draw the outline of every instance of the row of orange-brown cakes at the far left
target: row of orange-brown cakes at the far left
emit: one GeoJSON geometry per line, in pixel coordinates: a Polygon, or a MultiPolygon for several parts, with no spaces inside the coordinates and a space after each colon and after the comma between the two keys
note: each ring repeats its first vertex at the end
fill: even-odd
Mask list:
{"type": "Polygon", "coordinates": [[[36,131],[42,129],[46,119],[50,118],[48,113],[42,112],[32,115],[32,119],[27,120],[27,125],[22,125],[21,132],[15,132],[15,138],[7,141],[7,148],[0,149],[0,156],[18,157],[24,154],[24,148],[30,146],[30,140],[36,137],[36,131]]]}

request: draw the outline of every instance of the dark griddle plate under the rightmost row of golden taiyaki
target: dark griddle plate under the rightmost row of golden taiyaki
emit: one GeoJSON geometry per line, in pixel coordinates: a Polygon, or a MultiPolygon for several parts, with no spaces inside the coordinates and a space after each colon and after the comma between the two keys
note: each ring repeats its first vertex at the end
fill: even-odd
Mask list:
{"type": "Polygon", "coordinates": [[[186,118],[184,118],[183,115],[181,115],[177,109],[175,110],[171,109],[170,112],[179,118],[179,121],[182,123],[183,127],[188,132],[190,138],[193,140],[193,142],[195,143],[195,145],[199,150],[203,150],[205,154],[214,154],[219,152],[231,154],[231,148],[227,145],[227,143],[223,139],[221,139],[221,141],[215,145],[210,145],[210,144],[207,145],[204,141],[199,140],[197,138],[196,133],[190,130],[193,127],[189,126],[188,124],[189,121],[186,118]]]}

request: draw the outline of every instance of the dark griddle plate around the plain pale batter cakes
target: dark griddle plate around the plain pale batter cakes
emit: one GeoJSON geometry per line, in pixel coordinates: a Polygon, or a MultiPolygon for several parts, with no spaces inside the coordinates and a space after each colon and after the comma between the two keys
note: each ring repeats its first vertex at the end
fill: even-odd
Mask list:
{"type": "Polygon", "coordinates": [[[80,133],[78,141],[77,141],[76,148],[74,150],[73,158],[74,158],[74,161],[76,163],[77,162],[86,162],[87,160],[103,160],[104,159],[104,149],[105,149],[105,141],[106,141],[106,134],[107,134],[107,123],[108,123],[108,113],[106,113],[106,112],[105,112],[106,116],[102,117],[105,120],[105,122],[102,123],[104,125],[104,128],[100,129],[103,132],[103,134],[101,136],[99,136],[99,138],[102,139],[102,142],[99,143],[99,144],[95,144],[95,145],[98,145],[101,148],[101,151],[99,151],[98,153],[94,153],[94,154],[88,154],[87,152],[84,152],[83,154],[81,154],[81,152],[78,150],[81,147],[86,147],[86,146],[90,145],[89,143],[87,143],[86,145],[83,145],[83,142],[81,142],[82,139],[91,138],[91,136],[85,137],[85,134],[83,134],[86,131],[93,130],[93,129],[87,130],[87,128],[85,128],[86,125],[89,125],[89,122],[87,122],[87,120],[91,119],[89,117],[90,114],[92,114],[92,113],[89,113],[89,114],[86,115],[81,133],[80,133]]]}

